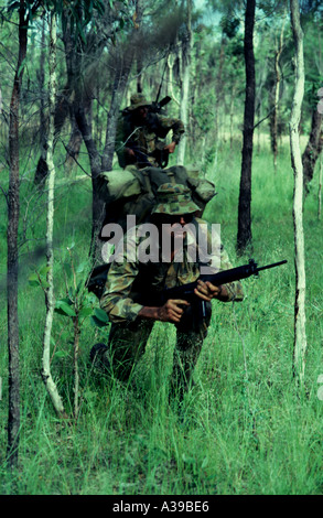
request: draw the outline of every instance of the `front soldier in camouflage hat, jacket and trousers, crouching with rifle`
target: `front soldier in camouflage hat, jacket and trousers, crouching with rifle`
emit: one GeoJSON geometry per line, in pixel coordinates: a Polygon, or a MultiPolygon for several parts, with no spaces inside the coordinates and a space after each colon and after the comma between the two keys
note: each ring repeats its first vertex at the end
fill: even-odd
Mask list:
{"type": "MultiPolygon", "coordinates": [[[[161,228],[164,223],[201,223],[194,214],[198,206],[191,198],[191,191],[180,184],[163,184],[158,190],[158,204],[151,222],[161,228]]],[[[205,222],[203,222],[205,223],[205,222]]],[[[204,228],[206,225],[204,226],[204,228]]],[[[189,233],[187,233],[189,234],[189,233]]],[[[143,355],[144,347],[155,321],[171,322],[176,326],[176,345],[173,357],[171,393],[177,390],[182,398],[192,384],[192,375],[196,365],[202,344],[207,334],[211,320],[211,300],[223,302],[241,301],[240,282],[216,287],[200,281],[196,295],[206,302],[206,314],[203,321],[196,321],[194,307],[185,300],[169,300],[162,306],[154,303],[154,294],[163,288],[186,284],[200,276],[200,263],[192,262],[189,257],[189,237],[184,234],[182,260],[175,262],[175,250],[172,250],[169,262],[161,261],[161,244],[159,261],[140,262],[138,259],[127,260],[126,246],[122,257],[111,263],[106,289],[100,300],[112,322],[108,347],[99,350],[104,365],[120,380],[128,380],[137,360],[143,355]],[[191,313],[190,313],[191,310],[191,313]],[[187,313],[189,312],[189,313],[187,313]],[[186,317],[185,317],[186,316],[186,317]]],[[[207,236],[209,237],[209,236],[207,236]]],[[[131,247],[139,248],[146,238],[136,233],[131,247]]],[[[196,236],[195,236],[196,238],[196,236]]],[[[125,245],[129,240],[125,236],[125,245]]],[[[131,241],[130,241],[131,242],[131,241]]],[[[129,252],[129,249],[127,249],[129,252]]],[[[226,251],[220,247],[219,270],[232,268],[226,251]]],[[[97,350],[91,350],[94,359],[97,350]]]]}

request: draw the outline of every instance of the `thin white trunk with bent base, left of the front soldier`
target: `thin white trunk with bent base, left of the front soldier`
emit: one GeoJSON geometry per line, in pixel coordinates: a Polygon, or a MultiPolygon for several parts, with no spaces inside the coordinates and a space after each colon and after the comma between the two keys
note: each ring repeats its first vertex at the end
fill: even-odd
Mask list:
{"type": "Polygon", "coordinates": [[[54,280],[53,280],[53,227],[54,227],[54,186],[55,186],[55,166],[53,161],[53,145],[54,145],[54,112],[55,112],[55,93],[56,93],[56,14],[50,14],[50,79],[49,79],[49,104],[50,104],[50,122],[49,122],[49,138],[47,138],[47,155],[46,162],[49,165],[47,175],[47,220],[46,220],[46,256],[47,256],[47,283],[45,289],[46,301],[46,319],[43,338],[43,369],[42,377],[49,395],[52,399],[56,413],[60,417],[65,417],[63,401],[58,393],[56,384],[51,374],[51,334],[53,325],[53,315],[55,307],[54,299],[54,280]]]}

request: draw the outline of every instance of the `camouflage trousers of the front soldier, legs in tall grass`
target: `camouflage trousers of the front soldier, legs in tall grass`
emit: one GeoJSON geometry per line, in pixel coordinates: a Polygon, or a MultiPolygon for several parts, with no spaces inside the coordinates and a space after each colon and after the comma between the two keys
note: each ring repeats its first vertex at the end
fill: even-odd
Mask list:
{"type": "MultiPolygon", "coordinates": [[[[182,331],[176,328],[176,344],[173,353],[171,392],[180,397],[191,387],[195,365],[203,341],[207,335],[209,317],[201,323],[200,328],[182,331]]],[[[153,327],[153,322],[140,320],[127,326],[112,324],[108,349],[103,361],[109,374],[120,381],[128,381],[137,361],[144,354],[146,345],[153,327]]]]}

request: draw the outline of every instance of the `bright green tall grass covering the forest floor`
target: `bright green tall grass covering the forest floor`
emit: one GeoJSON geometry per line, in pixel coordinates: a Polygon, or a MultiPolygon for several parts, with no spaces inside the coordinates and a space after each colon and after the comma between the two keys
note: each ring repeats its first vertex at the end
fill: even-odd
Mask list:
{"type": "MultiPolygon", "coordinates": [[[[77,172],[79,174],[79,172],[77,172]]],[[[83,173],[80,173],[83,174],[83,173]]],[[[63,173],[58,172],[58,176],[63,173]]],[[[217,196],[205,216],[222,225],[222,239],[235,266],[240,151],[219,149],[217,170],[208,172],[217,196]]],[[[317,174],[316,174],[317,176],[317,174]]],[[[58,179],[60,180],[60,179],[58,179]]],[[[255,148],[252,170],[252,257],[259,265],[288,265],[244,282],[240,304],[214,303],[212,325],[195,374],[196,387],[179,419],[168,403],[174,330],[157,324],[129,390],[100,378],[88,365],[94,343],[107,328],[85,321],[80,335],[83,402],[78,422],[58,422],[41,379],[44,296],[28,282],[34,240],[21,249],[20,467],[4,463],[8,419],[7,307],[1,295],[0,494],[37,495],[236,495],[322,494],[323,401],[323,222],[317,219],[317,177],[304,208],[306,259],[306,392],[295,390],[293,359],[293,174],[288,145],[273,173],[268,149],[255,148]]],[[[45,196],[21,186],[21,231],[45,235],[45,196]],[[25,226],[25,227],[24,227],[25,226]]],[[[4,199],[1,198],[4,214],[4,199]]],[[[73,257],[84,271],[90,236],[90,182],[57,186],[55,293],[65,295],[63,262],[73,257]]],[[[6,219],[1,222],[1,282],[6,274],[6,219]]],[[[44,253],[37,260],[45,263],[44,253]]],[[[4,278],[6,279],[6,278],[4,278]]],[[[6,293],[6,290],[1,290],[6,293]]],[[[73,404],[72,323],[55,314],[52,371],[64,402],[73,404]]]]}

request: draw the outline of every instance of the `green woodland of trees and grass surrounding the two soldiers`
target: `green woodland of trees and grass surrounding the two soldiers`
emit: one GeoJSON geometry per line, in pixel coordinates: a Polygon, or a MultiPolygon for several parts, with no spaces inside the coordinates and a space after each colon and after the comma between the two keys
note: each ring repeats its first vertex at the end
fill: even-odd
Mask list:
{"type": "Polygon", "coordinates": [[[322,493],[322,17],[311,0],[2,1],[1,494],[322,493]],[[181,419],[168,403],[171,325],[155,325],[129,390],[88,363],[109,328],[85,288],[96,176],[118,166],[116,120],[134,91],[172,97],[166,115],[186,133],[171,164],[215,183],[205,217],[220,223],[232,262],[288,259],[245,281],[240,305],[216,305],[181,419]]]}

